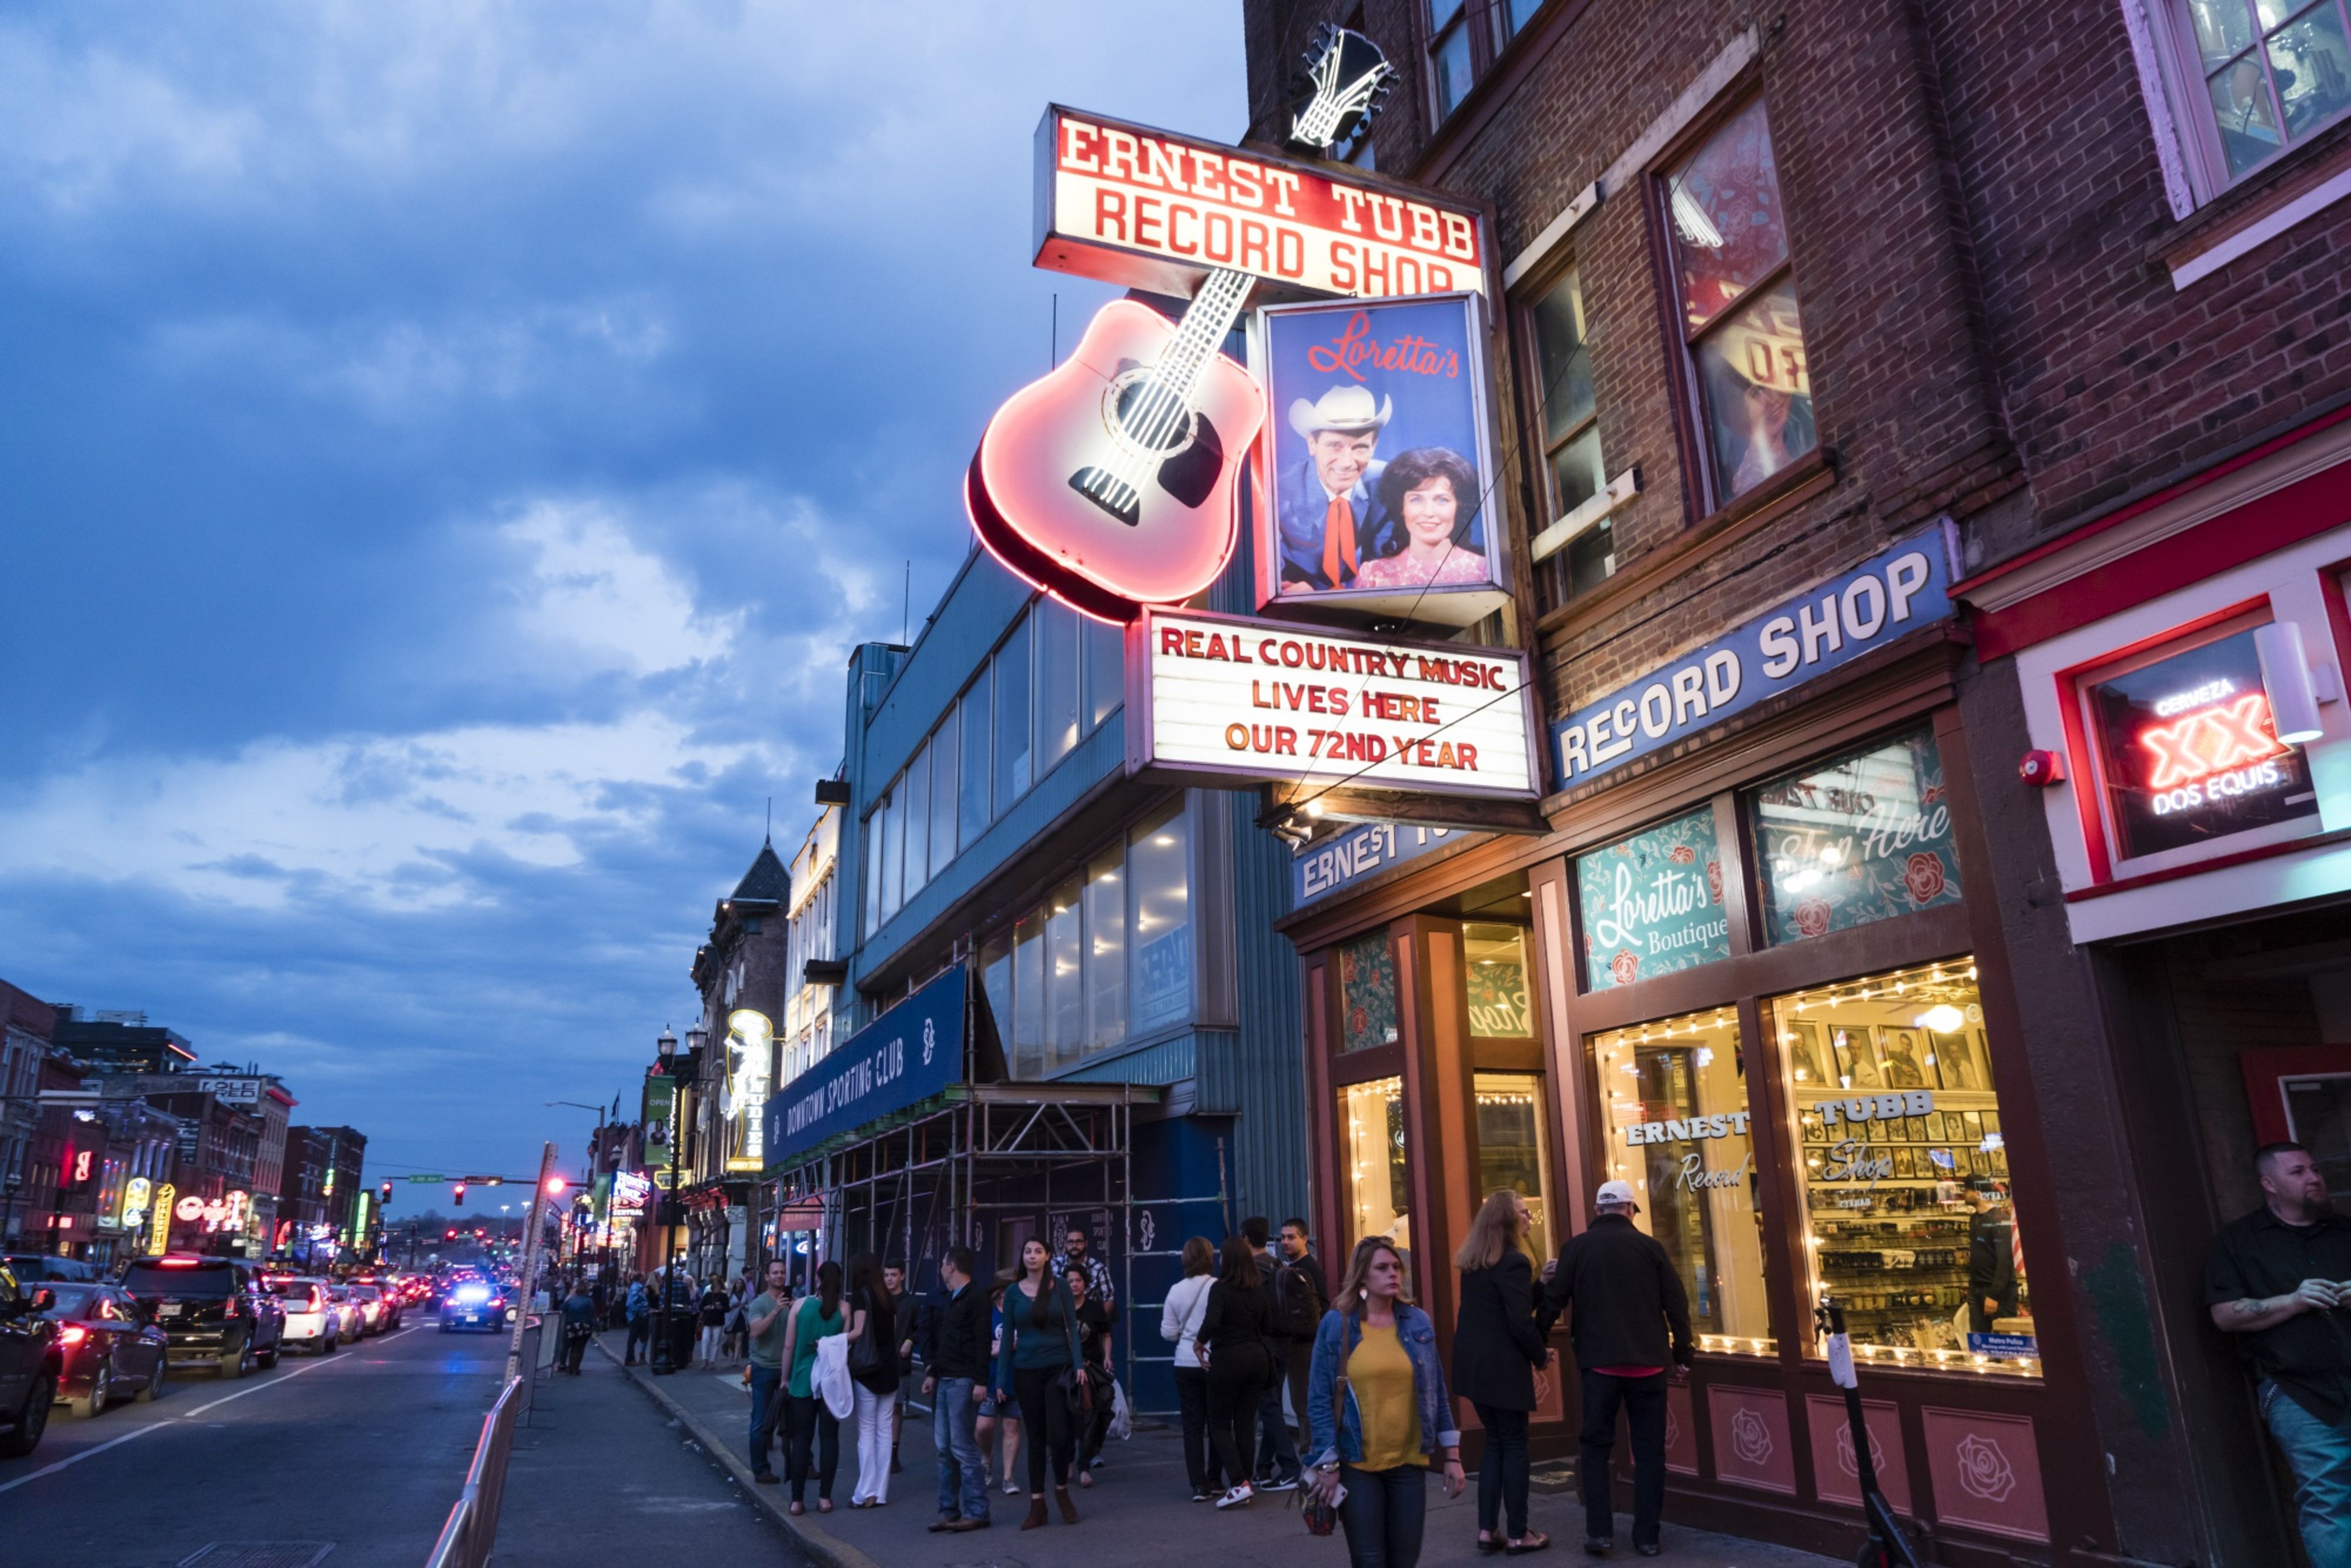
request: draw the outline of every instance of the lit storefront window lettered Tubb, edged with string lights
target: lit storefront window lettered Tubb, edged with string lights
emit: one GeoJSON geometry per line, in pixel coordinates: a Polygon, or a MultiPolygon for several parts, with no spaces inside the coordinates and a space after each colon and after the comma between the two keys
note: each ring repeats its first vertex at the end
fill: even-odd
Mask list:
{"type": "Polygon", "coordinates": [[[1857,1354],[2041,1371],[1975,964],[1775,997],[1813,1300],[1857,1354]]]}

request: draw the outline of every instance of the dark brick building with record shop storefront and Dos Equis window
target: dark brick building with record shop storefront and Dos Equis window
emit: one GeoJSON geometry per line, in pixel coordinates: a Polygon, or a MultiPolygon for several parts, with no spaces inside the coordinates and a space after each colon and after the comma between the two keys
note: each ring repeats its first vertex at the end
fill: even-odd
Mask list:
{"type": "MultiPolygon", "coordinates": [[[[2090,712],[2088,656],[2128,656],[2114,679],[2163,649],[2243,663],[2252,623],[2309,583],[2318,665],[2351,625],[2351,543],[2325,543],[2351,522],[2351,85],[2323,42],[2264,42],[2271,16],[2222,9],[1244,7],[1253,141],[1281,141],[1314,24],[1357,26],[1401,71],[1352,162],[1486,205],[1491,505],[1540,557],[1498,635],[1535,651],[1552,724],[1575,722],[1573,748],[1552,736],[1547,832],[1354,877],[1286,922],[1314,999],[1317,1220],[1333,1253],[1408,1239],[1451,1331],[1427,1260],[1476,1192],[1535,1187],[1556,1246],[1599,1180],[1641,1182],[1702,1298],[1674,1403],[1683,1519],[1850,1549],[1808,1321],[1829,1295],[1935,1561],[2292,1549],[2196,1267],[2257,1199],[2245,1157],[2269,1126],[2257,1063],[2210,1041],[2351,1039],[2342,933],[2316,907],[2351,891],[2320,863],[2332,736],[2306,743],[2316,802],[2257,830],[2278,884],[2226,891],[2241,919],[2292,914],[2198,936],[2245,954],[2269,985],[2248,999],[2215,994],[2179,936],[2215,912],[2210,877],[2266,875],[2198,870],[2238,818],[2085,858],[2083,835],[2123,835],[2139,806],[2114,745],[2064,717],[2090,712]],[[1871,604],[1895,578],[1848,576],[1904,543],[1949,550],[1954,611],[1890,628],[1871,604]],[[2252,588],[2222,592],[2231,571],[2252,588]],[[1676,661],[1777,611],[1803,639],[1791,677],[1683,722],[1676,661]],[[1838,614],[1869,646],[1808,677],[1838,614]],[[2212,642],[2241,630],[2243,649],[2212,642]],[[2081,663],[2034,663],[2059,646],[2081,663]],[[1636,724],[1662,743],[1601,764],[1636,724]],[[2078,792],[2020,778],[2036,748],[2078,792]],[[1693,867],[1697,914],[1627,903],[1632,882],[1610,903],[1610,872],[1653,865],[1641,889],[1693,867]],[[1902,1103],[1890,1126],[1843,1110],[1878,1098],[1902,1103]],[[1366,1182],[1382,1107],[1411,1152],[1366,1182]],[[1728,1110],[1740,1138],[1686,1135],[1728,1110]]],[[[1561,1394],[1538,1436],[1573,1432],[1561,1394]]]]}

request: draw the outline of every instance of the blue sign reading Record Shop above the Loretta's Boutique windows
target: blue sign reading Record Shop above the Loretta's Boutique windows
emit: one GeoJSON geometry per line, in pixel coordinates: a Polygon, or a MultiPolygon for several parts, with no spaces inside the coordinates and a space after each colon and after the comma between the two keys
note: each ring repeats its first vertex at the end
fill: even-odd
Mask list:
{"type": "Polygon", "coordinates": [[[1949,614],[1951,545],[1937,527],[1578,708],[1552,726],[1559,783],[1660,752],[1949,614]]]}

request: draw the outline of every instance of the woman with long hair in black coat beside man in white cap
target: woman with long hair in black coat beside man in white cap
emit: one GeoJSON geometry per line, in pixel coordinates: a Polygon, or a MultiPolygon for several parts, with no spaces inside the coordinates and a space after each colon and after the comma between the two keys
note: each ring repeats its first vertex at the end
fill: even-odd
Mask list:
{"type": "Polygon", "coordinates": [[[1535,1331],[1535,1265],[1519,1239],[1533,1215],[1509,1187],[1486,1194],[1469,1237],[1453,1253],[1462,1272],[1453,1324],[1453,1392],[1476,1408],[1486,1427],[1486,1458],[1476,1472],[1476,1549],[1542,1552],[1549,1535],[1526,1528],[1526,1420],[1535,1410],[1535,1373],[1552,1347],[1535,1331]],[[1509,1514],[1509,1535],[1495,1535],[1509,1514]]]}

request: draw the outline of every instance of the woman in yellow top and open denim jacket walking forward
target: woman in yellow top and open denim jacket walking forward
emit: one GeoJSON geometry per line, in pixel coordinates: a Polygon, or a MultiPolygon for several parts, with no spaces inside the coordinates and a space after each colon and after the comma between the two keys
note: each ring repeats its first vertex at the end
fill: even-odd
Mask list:
{"type": "Polygon", "coordinates": [[[1338,1298],[1314,1333],[1307,1373],[1314,1493],[1338,1495],[1354,1568],[1413,1568],[1427,1519],[1429,1460],[1446,1497],[1462,1495],[1462,1434],[1436,1359],[1436,1326],[1404,1300],[1404,1258],[1387,1237],[1354,1244],[1338,1298]],[[1345,1488],[1345,1495],[1340,1490],[1345,1488]]]}

